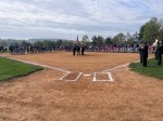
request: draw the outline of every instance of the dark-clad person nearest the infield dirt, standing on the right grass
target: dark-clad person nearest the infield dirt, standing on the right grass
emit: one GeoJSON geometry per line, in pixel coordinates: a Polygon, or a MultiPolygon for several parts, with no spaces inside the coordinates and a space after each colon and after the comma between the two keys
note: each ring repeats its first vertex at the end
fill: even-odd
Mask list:
{"type": "Polygon", "coordinates": [[[145,67],[147,67],[147,58],[148,58],[148,45],[147,43],[145,43],[142,49],[142,66],[145,67]]]}

